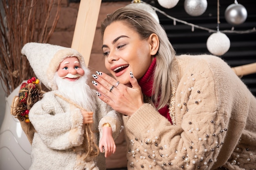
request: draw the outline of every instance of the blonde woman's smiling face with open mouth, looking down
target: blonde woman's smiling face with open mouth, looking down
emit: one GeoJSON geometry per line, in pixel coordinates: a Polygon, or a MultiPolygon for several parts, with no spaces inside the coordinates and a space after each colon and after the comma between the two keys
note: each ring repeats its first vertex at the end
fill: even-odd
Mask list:
{"type": "Polygon", "coordinates": [[[149,40],[141,40],[136,31],[120,21],[106,27],[102,50],[106,68],[125,85],[130,84],[130,72],[139,80],[153,61],[149,40]]]}

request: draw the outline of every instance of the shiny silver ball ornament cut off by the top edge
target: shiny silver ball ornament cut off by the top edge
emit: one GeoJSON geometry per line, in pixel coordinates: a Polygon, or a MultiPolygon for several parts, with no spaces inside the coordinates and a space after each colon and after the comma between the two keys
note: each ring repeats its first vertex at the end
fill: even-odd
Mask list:
{"type": "Polygon", "coordinates": [[[200,16],[207,9],[207,0],[185,0],[184,8],[191,16],[200,16]]]}

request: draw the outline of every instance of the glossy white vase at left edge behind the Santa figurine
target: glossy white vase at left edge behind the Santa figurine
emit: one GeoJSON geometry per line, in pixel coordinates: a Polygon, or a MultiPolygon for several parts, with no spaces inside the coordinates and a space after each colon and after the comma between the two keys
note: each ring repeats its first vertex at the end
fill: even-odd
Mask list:
{"type": "Polygon", "coordinates": [[[12,100],[18,96],[19,90],[20,86],[5,98],[5,114],[0,129],[0,170],[28,170],[31,166],[31,144],[19,120],[10,113],[12,100]]]}

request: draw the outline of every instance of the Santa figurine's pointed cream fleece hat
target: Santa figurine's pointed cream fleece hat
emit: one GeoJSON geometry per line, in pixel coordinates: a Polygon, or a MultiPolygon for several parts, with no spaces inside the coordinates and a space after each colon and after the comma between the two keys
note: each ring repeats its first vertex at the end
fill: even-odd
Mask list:
{"type": "Polygon", "coordinates": [[[77,57],[81,67],[85,68],[83,56],[72,48],[33,42],[25,44],[21,54],[27,57],[37,78],[49,90],[58,89],[54,82],[54,74],[65,58],[77,57]]]}

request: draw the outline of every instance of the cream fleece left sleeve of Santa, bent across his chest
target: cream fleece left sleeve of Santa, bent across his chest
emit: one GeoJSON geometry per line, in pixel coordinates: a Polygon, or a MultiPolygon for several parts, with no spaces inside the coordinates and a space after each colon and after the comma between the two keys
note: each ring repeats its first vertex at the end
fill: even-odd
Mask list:
{"type": "Polygon", "coordinates": [[[78,108],[70,107],[48,92],[31,108],[29,119],[47,147],[63,150],[82,144],[83,117],[78,108]]]}

